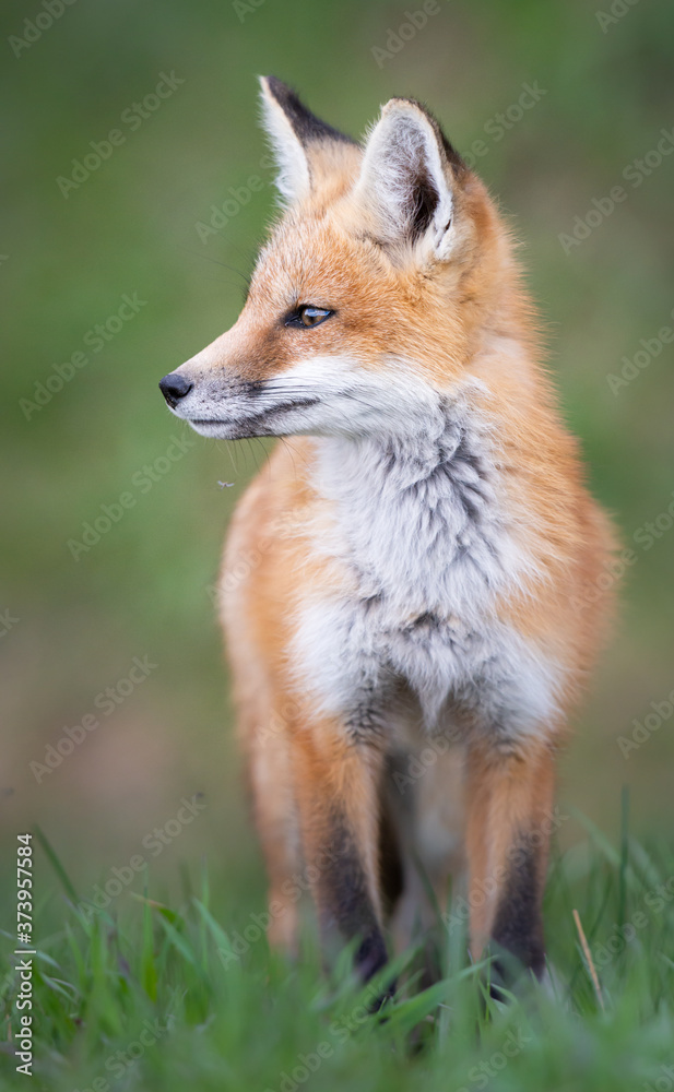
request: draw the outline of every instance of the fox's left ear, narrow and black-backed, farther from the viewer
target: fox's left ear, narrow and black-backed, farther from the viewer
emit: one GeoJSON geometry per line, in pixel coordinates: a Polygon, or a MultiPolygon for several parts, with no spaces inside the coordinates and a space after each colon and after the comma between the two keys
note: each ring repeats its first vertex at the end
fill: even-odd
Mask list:
{"type": "Polygon", "coordinates": [[[312,154],[327,142],[353,141],[311,114],[274,75],[260,76],[260,87],[262,123],[279,168],[276,188],[284,204],[301,201],[311,189],[312,154]]]}

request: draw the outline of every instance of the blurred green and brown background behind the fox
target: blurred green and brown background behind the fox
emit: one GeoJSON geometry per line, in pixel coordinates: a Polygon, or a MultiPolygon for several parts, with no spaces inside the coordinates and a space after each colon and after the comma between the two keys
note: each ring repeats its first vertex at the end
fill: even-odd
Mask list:
{"type": "MultiPolygon", "coordinates": [[[[196,793],[208,807],[153,867],[174,875],[206,853],[233,899],[247,883],[256,899],[261,890],[212,585],[233,505],[264,449],[196,437],[156,385],[234,322],[240,274],[273,213],[257,73],[291,82],[353,134],[392,95],[413,95],[460,151],[482,142],[476,169],[522,241],[594,492],[632,546],[672,501],[672,345],[660,340],[655,352],[652,343],[674,329],[674,155],[653,151],[674,124],[674,9],[614,0],[614,13],[606,4],[598,16],[577,0],[438,0],[426,25],[401,37],[405,10],[421,7],[74,0],[51,25],[40,15],[37,31],[25,27],[46,10],[37,0],[5,9],[2,831],[8,847],[39,822],[83,894],[144,852],[143,838],[196,793]],[[34,40],[14,40],[26,35],[34,40]],[[174,90],[139,116],[133,104],[154,94],[162,73],[174,90]],[[537,88],[525,109],[524,85],[537,88]],[[64,194],[57,180],[114,129],[123,140],[64,194]],[[648,174],[634,166],[647,153],[648,174]],[[261,188],[200,237],[212,206],[251,176],[261,188]],[[598,213],[593,200],[606,209],[616,185],[626,199],[598,213]],[[559,236],[575,224],[586,234],[575,218],[591,210],[600,223],[565,247],[559,236]],[[119,321],[125,294],[142,305],[119,321]],[[97,324],[109,339],[99,351],[97,324]],[[640,349],[646,366],[612,389],[608,377],[640,349]],[[78,357],[69,370],[78,353],[87,363],[78,357]],[[47,400],[39,384],[51,377],[58,388],[55,366],[68,378],[60,390],[42,388],[47,400]],[[174,438],[187,444],[170,462],[174,438]],[[75,560],[69,541],[81,542],[83,524],[125,492],[132,507],[75,560]],[[123,682],[135,656],[156,666],[105,713],[97,696],[123,682]],[[76,736],[86,714],[99,727],[38,781],[29,763],[44,763],[66,726],[76,736]]],[[[628,758],[617,743],[674,688],[674,535],[669,517],[660,523],[650,548],[635,546],[618,631],[563,767],[561,799],[612,833],[624,784],[636,831],[674,820],[674,716],[628,758]]],[[[577,836],[567,824],[564,838],[577,836]]],[[[42,881],[46,893],[50,880],[42,881]]]]}

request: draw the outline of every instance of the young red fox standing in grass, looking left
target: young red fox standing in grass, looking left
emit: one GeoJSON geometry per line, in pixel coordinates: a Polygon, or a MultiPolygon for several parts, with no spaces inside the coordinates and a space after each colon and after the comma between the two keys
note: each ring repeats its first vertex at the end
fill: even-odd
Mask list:
{"type": "Polygon", "coordinates": [[[394,98],[356,143],[276,79],[262,103],[283,214],[235,325],[159,385],[202,436],[297,438],[238,506],[222,578],[270,940],[295,945],[305,868],[367,978],[387,921],[427,919],[428,881],[444,906],[465,854],[474,956],[540,976],[608,522],[508,230],[436,120],[394,98]]]}

